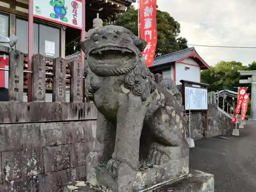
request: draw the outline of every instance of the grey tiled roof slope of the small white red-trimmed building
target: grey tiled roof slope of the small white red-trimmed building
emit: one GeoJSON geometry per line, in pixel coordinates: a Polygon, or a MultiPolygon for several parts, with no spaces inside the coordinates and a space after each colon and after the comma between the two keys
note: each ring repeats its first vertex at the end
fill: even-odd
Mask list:
{"type": "Polygon", "coordinates": [[[190,47],[187,49],[183,49],[177,52],[173,52],[173,53],[169,53],[160,57],[156,57],[154,58],[154,64],[153,66],[159,66],[159,65],[163,65],[165,63],[169,63],[169,62],[175,62],[185,56],[187,56],[189,53],[191,53],[192,51],[195,51],[194,47],[190,47]]]}

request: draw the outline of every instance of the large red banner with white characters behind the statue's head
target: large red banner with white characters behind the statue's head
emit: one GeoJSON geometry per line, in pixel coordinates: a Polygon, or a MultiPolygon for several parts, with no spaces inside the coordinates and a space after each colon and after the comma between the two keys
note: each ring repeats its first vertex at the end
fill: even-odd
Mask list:
{"type": "Polygon", "coordinates": [[[140,0],[140,37],[147,42],[142,55],[146,66],[153,66],[157,47],[157,0],[140,0]]]}

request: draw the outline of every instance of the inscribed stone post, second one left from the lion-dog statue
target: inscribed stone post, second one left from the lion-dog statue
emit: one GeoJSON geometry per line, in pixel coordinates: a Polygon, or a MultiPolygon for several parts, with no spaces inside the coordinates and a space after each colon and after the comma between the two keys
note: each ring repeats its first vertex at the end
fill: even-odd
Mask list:
{"type": "Polygon", "coordinates": [[[66,102],[66,63],[61,57],[53,60],[53,102],[66,102]]]}

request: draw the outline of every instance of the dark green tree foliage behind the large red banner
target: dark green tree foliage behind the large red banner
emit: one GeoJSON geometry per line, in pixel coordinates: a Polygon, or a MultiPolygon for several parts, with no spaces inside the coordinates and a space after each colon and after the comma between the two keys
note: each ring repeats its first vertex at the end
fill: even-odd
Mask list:
{"type": "MultiPolygon", "coordinates": [[[[126,12],[105,20],[104,25],[118,25],[138,35],[138,10],[130,6],[126,12]]],[[[157,9],[157,49],[160,56],[187,48],[187,40],[179,37],[180,24],[169,13],[157,9]],[[168,42],[171,42],[169,44],[168,42]]]]}

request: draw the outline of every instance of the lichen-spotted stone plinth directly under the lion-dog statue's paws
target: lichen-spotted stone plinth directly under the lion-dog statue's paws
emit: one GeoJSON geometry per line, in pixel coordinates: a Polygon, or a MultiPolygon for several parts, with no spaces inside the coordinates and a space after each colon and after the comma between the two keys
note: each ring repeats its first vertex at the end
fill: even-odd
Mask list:
{"type": "Polygon", "coordinates": [[[120,164],[117,176],[112,176],[105,167],[98,167],[96,177],[88,180],[93,186],[102,191],[134,192],[154,186],[164,181],[175,180],[189,173],[189,159],[180,158],[171,163],[154,165],[152,168],[134,172],[126,164],[120,164]],[[95,179],[96,178],[96,179],[95,179]],[[95,182],[96,181],[96,182],[95,182]]]}

